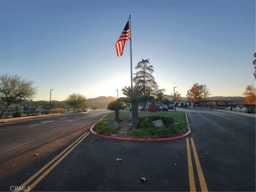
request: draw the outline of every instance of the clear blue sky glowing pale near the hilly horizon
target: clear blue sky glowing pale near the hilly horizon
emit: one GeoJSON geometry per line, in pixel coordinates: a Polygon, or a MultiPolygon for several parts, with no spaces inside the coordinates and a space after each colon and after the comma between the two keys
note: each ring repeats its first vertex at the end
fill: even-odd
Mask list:
{"type": "MultiPolygon", "coordinates": [[[[194,83],[211,96],[255,84],[255,1],[0,1],[0,74],[38,86],[34,100],[122,96],[130,42],[115,43],[131,15],[133,68],[149,59],[165,94],[194,83]]],[[[134,72],[134,69],[133,69],[134,72]]]]}

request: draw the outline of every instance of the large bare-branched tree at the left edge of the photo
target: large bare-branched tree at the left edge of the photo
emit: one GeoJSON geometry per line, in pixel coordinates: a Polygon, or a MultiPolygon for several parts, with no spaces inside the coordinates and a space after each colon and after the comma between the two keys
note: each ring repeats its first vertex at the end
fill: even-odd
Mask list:
{"type": "Polygon", "coordinates": [[[36,93],[37,87],[34,86],[34,81],[25,79],[17,74],[0,75],[0,101],[3,106],[0,118],[2,118],[7,107],[25,99],[33,98],[36,93]]]}

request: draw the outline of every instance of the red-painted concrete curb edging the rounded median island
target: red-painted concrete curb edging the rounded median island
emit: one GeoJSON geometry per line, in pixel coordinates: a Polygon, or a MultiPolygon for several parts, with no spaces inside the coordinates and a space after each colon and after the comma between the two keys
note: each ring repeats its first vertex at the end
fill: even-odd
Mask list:
{"type": "MultiPolygon", "coordinates": [[[[188,117],[187,117],[187,113],[185,112],[186,114],[186,119],[187,119],[187,123],[188,123],[188,117]]],[[[108,114],[107,114],[108,115],[108,114]]],[[[107,116],[105,115],[105,116],[107,116]]],[[[105,117],[104,116],[104,117],[105,117]]],[[[103,119],[104,117],[102,117],[101,119],[103,119]]],[[[101,120],[100,119],[100,120],[101,120]]],[[[96,124],[96,123],[95,123],[96,124]]],[[[94,124],[94,125],[95,125],[94,124]]],[[[179,140],[179,139],[184,139],[186,137],[188,137],[192,132],[191,132],[191,129],[190,129],[190,126],[189,126],[189,123],[188,123],[188,132],[181,135],[181,136],[178,136],[178,137],[172,137],[172,138],[162,138],[162,139],[131,139],[131,138],[117,138],[117,137],[111,137],[111,136],[107,136],[107,135],[101,135],[101,134],[98,134],[96,132],[93,131],[93,127],[94,125],[91,126],[90,128],[90,132],[96,136],[96,137],[100,137],[100,138],[104,138],[104,139],[110,139],[110,140],[117,140],[117,141],[135,141],[135,142],[163,142],[163,141],[174,141],[174,140],[179,140]]]]}

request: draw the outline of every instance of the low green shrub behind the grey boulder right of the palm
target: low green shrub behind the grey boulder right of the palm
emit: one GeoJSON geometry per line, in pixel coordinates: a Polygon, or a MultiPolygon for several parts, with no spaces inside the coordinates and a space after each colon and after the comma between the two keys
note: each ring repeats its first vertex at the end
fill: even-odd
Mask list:
{"type": "MultiPolygon", "coordinates": [[[[145,125],[146,122],[151,123],[151,122],[156,121],[158,119],[162,119],[164,125],[167,126],[167,127],[171,126],[174,122],[174,117],[170,116],[170,115],[148,115],[148,116],[139,117],[139,127],[143,128],[143,127],[145,127],[143,125],[145,125]]],[[[149,125],[151,127],[151,125],[149,123],[147,125],[149,125]]],[[[153,123],[152,123],[152,125],[153,125],[153,123]]]]}

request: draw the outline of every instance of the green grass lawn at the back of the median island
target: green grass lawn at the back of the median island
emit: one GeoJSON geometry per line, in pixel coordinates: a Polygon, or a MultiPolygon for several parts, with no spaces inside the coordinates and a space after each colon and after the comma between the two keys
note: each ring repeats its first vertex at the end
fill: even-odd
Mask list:
{"type": "MultiPolygon", "coordinates": [[[[121,119],[127,119],[128,115],[132,115],[131,111],[120,111],[119,117],[121,119]]],[[[171,115],[174,117],[174,121],[179,122],[187,122],[186,120],[186,114],[183,111],[156,111],[156,112],[150,112],[150,111],[140,111],[139,117],[145,116],[145,115],[171,115]]],[[[103,121],[108,121],[111,119],[115,119],[115,112],[109,113],[106,117],[103,118],[103,121]]]]}

